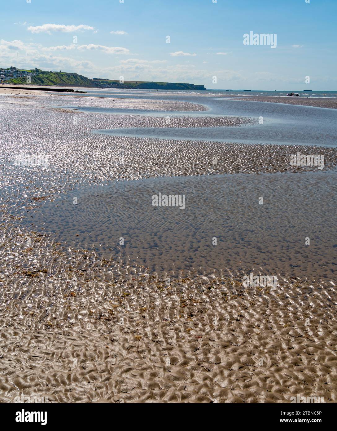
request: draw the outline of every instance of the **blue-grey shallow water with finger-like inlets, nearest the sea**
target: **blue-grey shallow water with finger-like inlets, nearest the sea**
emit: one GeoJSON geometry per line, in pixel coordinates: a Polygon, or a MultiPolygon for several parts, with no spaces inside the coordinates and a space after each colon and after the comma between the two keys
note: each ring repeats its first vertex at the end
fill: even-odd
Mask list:
{"type": "MultiPolygon", "coordinates": [[[[181,98],[179,99],[181,100],[181,98]]],[[[242,142],[254,144],[297,144],[337,146],[337,109],[294,106],[281,103],[247,102],[205,97],[185,96],[183,100],[207,106],[205,112],[189,112],[189,116],[249,116],[263,119],[263,124],[244,128],[136,128],[99,131],[114,136],[157,137],[203,141],[242,142]]],[[[146,110],[72,106],[85,112],[148,115],[146,110]]],[[[152,111],[152,116],[176,116],[177,112],[152,111]]],[[[96,132],[96,131],[94,131],[96,132]]]]}

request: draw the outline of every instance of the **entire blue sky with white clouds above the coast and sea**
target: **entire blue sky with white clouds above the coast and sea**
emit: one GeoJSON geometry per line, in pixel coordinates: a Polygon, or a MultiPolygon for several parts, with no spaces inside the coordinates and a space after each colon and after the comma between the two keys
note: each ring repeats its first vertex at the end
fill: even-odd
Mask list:
{"type": "Polygon", "coordinates": [[[335,91],[336,21],[337,0],[9,0],[0,66],[209,89],[335,91]],[[244,44],[251,31],[272,41],[276,34],[275,47],[244,44]]]}

